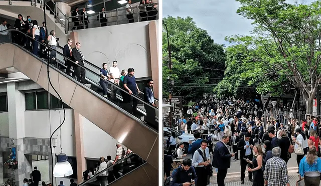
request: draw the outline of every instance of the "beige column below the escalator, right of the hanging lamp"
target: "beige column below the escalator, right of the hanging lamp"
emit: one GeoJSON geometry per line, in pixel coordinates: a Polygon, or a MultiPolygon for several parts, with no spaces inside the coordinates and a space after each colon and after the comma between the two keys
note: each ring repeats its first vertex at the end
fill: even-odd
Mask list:
{"type": "Polygon", "coordinates": [[[83,140],[82,115],[77,113],[75,110],[74,119],[77,158],[77,179],[79,183],[82,180],[82,172],[86,170],[86,160],[83,140]]]}

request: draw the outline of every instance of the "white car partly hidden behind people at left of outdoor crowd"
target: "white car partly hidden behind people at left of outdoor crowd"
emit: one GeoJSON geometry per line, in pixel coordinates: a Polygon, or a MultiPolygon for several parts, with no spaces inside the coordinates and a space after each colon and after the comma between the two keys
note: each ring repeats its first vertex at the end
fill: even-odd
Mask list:
{"type": "MultiPolygon", "coordinates": [[[[194,139],[194,135],[193,134],[189,134],[189,133],[184,133],[181,134],[180,132],[178,132],[177,130],[174,130],[173,128],[170,127],[163,127],[163,134],[164,134],[164,138],[163,138],[163,144],[164,144],[164,148],[168,149],[167,147],[167,140],[169,139],[169,137],[172,136],[172,131],[175,132],[176,136],[179,137],[180,141],[184,143],[184,152],[183,153],[187,153],[187,150],[189,149],[189,144],[190,144],[190,140],[195,140],[194,139]],[[182,139],[181,139],[182,138],[182,139]]],[[[178,148],[178,144],[176,144],[176,148],[178,148]]]]}

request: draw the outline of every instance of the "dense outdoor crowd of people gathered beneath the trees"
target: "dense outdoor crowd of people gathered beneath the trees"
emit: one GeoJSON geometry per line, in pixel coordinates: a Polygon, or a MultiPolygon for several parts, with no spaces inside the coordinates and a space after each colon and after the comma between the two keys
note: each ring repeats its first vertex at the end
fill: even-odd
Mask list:
{"type": "Polygon", "coordinates": [[[170,179],[169,185],[191,185],[193,180],[197,186],[207,185],[209,177],[213,176],[212,167],[217,168],[218,185],[225,185],[232,157],[240,160],[241,184],[244,184],[245,171],[248,171],[248,180],[253,185],[289,185],[287,162],[292,153],[299,167],[297,173],[304,177],[305,185],[319,185],[321,141],[318,135],[321,135],[321,127],[318,118],[298,121],[289,115],[280,122],[273,113],[268,112],[265,117],[255,102],[219,100],[211,96],[190,107],[186,114],[188,121],[182,113],[177,125],[181,133],[188,131],[195,137],[187,150],[192,160],[184,159],[186,154],[180,152],[184,151],[183,146],[176,149],[175,142],[180,139],[174,133],[170,140],[172,148],[165,151],[164,159],[179,154],[177,158],[184,160],[172,175],[171,161],[164,162],[167,163],[164,166],[167,167],[165,173],[170,179]],[[267,118],[266,126],[264,118],[267,118]],[[191,173],[187,176],[189,171],[191,173]]]}

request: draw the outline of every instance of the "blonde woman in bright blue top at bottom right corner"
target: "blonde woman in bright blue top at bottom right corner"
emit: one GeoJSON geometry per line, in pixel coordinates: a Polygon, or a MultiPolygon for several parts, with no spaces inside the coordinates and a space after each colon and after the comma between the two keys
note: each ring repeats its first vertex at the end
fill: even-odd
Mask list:
{"type": "Polygon", "coordinates": [[[321,159],[316,154],[316,148],[312,146],[307,156],[300,161],[299,176],[300,178],[304,176],[305,185],[318,186],[320,184],[321,159]]]}

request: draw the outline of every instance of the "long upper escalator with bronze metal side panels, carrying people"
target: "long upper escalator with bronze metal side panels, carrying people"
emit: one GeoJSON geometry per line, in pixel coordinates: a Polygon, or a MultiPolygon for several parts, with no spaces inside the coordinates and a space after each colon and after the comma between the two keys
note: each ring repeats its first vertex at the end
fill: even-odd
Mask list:
{"type": "MultiPolygon", "coordinates": [[[[24,37],[29,37],[20,31],[6,31],[9,31],[11,36],[20,34],[24,37]]],[[[58,95],[48,85],[47,60],[32,54],[22,46],[13,43],[12,40],[0,42],[0,56],[2,56],[0,58],[0,71],[2,73],[6,72],[7,68],[14,67],[58,98],[58,95]]],[[[57,51],[57,59],[63,57],[63,54],[57,51]]],[[[57,61],[62,65],[63,62],[61,60],[57,61]]],[[[97,91],[99,85],[97,85],[97,82],[100,80],[99,74],[87,67],[78,67],[84,68],[86,71],[85,84],[68,76],[56,66],[49,65],[51,82],[59,92],[62,101],[145,161],[144,164],[124,175],[123,177],[126,177],[126,179],[118,179],[112,184],[121,185],[122,182],[131,182],[133,185],[157,185],[158,120],[155,117],[153,122],[143,122],[139,118],[139,114],[131,113],[131,103],[123,103],[122,97],[125,96],[130,100],[135,100],[138,105],[144,105],[143,107],[148,109],[148,113],[152,111],[155,116],[158,115],[158,109],[143,102],[138,96],[128,94],[111,82],[109,82],[109,89],[113,90],[116,96],[104,98],[97,91]],[[143,178],[140,179],[139,177],[143,178]],[[131,179],[137,180],[137,182],[133,182],[131,179]]]]}

